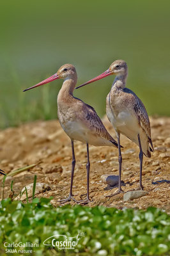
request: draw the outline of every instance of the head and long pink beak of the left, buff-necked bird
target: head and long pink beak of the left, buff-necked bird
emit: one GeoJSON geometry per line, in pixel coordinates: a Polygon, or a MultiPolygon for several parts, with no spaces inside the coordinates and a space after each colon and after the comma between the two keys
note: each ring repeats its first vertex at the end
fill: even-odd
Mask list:
{"type": "Polygon", "coordinates": [[[26,92],[27,90],[31,90],[33,88],[36,88],[40,85],[50,83],[59,78],[64,79],[64,80],[73,79],[73,80],[77,81],[77,72],[75,70],[75,67],[72,64],[65,64],[59,68],[59,70],[56,74],[54,74],[53,76],[50,76],[49,78],[43,80],[42,82],[40,82],[38,84],[35,84],[35,85],[27,88],[23,92],[26,92]]]}

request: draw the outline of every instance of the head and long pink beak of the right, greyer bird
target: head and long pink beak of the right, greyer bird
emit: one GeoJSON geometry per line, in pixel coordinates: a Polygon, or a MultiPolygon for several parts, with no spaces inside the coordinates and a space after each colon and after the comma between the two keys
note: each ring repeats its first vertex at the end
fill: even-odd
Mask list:
{"type": "Polygon", "coordinates": [[[102,74],[99,76],[89,80],[88,82],[81,84],[80,86],[77,86],[75,89],[78,89],[86,84],[93,83],[97,80],[100,80],[104,77],[116,75],[116,76],[127,76],[127,63],[124,60],[116,60],[114,61],[111,66],[102,74]]]}

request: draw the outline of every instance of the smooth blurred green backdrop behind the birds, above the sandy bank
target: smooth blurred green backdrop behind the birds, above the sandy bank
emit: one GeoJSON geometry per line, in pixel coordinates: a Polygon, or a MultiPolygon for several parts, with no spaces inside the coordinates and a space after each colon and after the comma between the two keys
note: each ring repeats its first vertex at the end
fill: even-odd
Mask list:
{"type": "MultiPolygon", "coordinates": [[[[0,3],[0,127],[57,117],[62,81],[25,88],[65,63],[81,84],[112,61],[128,63],[127,87],[149,115],[169,115],[170,1],[8,0],[0,3]]],[[[105,114],[114,76],[75,90],[75,96],[105,114]]]]}

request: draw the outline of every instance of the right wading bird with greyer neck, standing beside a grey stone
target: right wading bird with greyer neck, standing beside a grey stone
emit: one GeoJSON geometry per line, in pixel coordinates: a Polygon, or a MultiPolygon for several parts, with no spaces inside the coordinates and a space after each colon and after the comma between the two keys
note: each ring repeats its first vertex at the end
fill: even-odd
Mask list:
{"type": "MultiPolygon", "coordinates": [[[[106,113],[109,121],[116,131],[118,138],[119,150],[119,188],[118,193],[123,192],[121,189],[121,147],[120,134],[124,134],[130,140],[134,141],[139,146],[139,160],[140,160],[140,179],[139,188],[143,189],[142,185],[142,169],[143,169],[143,154],[146,157],[151,157],[153,152],[153,145],[151,141],[151,129],[148,113],[144,108],[143,102],[135,95],[132,90],[125,87],[128,67],[123,60],[114,61],[108,70],[100,76],[89,80],[82,84],[92,83],[106,76],[116,75],[112,83],[111,91],[106,98],[106,113]]],[[[81,87],[78,86],[77,88],[81,87]]],[[[76,89],[77,89],[76,88],[76,89]]],[[[118,194],[116,193],[116,194],[118,194]]],[[[114,195],[116,195],[114,194],[114,195]]],[[[111,195],[112,196],[112,195],[111,195]]]]}

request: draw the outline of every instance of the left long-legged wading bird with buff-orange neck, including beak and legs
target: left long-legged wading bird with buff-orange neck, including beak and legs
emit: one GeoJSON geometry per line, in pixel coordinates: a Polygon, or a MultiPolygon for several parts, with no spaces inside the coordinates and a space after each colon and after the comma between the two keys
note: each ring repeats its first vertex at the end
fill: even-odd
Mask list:
{"type": "Polygon", "coordinates": [[[109,132],[107,132],[95,109],[84,103],[82,100],[73,97],[73,90],[77,83],[77,72],[73,65],[63,65],[59,68],[56,74],[35,86],[27,88],[24,92],[59,78],[64,79],[64,83],[58,93],[58,118],[61,127],[70,137],[72,143],[72,175],[70,194],[68,198],[61,200],[60,202],[68,202],[71,199],[75,202],[89,202],[89,144],[94,146],[113,146],[118,148],[118,143],[111,137],[109,132]],[[81,141],[87,145],[87,198],[86,200],[80,201],[75,200],[72,194],[73,173],[75,168],[74,140],[81,141]]]}

